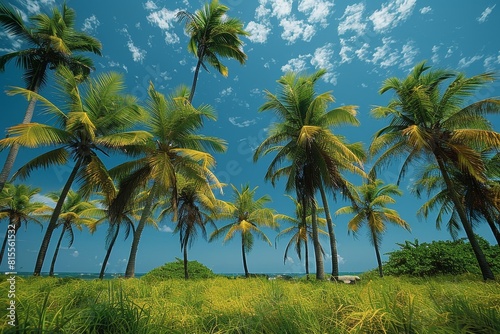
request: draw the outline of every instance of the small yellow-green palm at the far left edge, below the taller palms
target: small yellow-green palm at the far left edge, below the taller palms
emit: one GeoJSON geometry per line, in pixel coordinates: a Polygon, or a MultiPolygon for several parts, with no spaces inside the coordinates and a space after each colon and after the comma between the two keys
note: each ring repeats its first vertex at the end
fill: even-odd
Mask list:
{"type": "Polygon", "coordinates": [[[0,192],[0,220],[9,219],[9,226],[5,231],[5,237],[0,251],[0,264],[9,235],[16,235],[22,223],[30,222],[42,226],[39,218],[44,218],[50,208],[42,202],[33,201],[33,197],[40,193],[40,188],[32,188],[28,185],[15,185],[7,183],[0,192]]]}

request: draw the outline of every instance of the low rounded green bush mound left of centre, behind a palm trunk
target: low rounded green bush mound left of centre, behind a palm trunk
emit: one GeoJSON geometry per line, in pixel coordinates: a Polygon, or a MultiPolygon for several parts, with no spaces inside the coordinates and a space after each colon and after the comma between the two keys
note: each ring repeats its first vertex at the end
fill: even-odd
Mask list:
{"type": "MultiPolygon", "coordinates": [[[[205,267],[198,261],[189,261],[188,270],[190,279],[213,278],[216,276],[212,270],[205,267]]],[[[165,263],[163,266],[151,270],[141,279],[147,281],[154,281],[154,280],[161,281],[161,280],[176,279],[176,278],[179,279],[184,278],[184,264],[183,261],[179,258],[176,258],[176,261],[174,262],[165,263]]]]}

